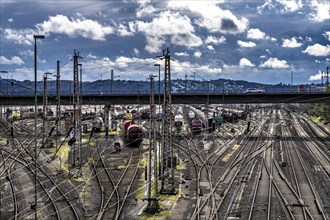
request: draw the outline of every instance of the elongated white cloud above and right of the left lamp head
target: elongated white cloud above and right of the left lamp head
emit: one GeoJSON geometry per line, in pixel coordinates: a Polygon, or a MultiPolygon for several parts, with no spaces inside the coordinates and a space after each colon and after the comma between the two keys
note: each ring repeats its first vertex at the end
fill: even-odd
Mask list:
{"type": "Polygon", "coordinates": [[[65,34],[70,38],[78,36],[92,40],[104,41],[106,35],[114,32],[110,26],[103,26],[97,21],[90,19],[71,19],[64,15],[50,16],[48,21],[37,24],[40,33],[65,34]]]}

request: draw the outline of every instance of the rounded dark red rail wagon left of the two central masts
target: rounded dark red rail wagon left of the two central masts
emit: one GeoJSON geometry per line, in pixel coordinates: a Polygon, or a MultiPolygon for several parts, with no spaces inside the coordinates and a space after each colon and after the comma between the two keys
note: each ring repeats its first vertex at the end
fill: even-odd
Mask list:
{"type": "Polygon", "coordinates": [[[129,120],[124,124],[124,135],[127,145],[130,147],[139,147],[143,141],[143,130],[140,125],[134,123],[134,121],[129,120]]]}

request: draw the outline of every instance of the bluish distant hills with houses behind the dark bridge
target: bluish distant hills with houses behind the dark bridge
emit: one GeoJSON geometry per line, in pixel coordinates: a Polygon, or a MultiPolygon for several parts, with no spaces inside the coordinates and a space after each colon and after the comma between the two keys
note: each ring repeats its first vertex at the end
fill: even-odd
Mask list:
{"type": "MultiPolygon", "coordinates": [[[[155,93],[158,93],[159,82],[155,80],[155,93]]],[[[48,94],[56,94],[56,81],[48,81],[48,94]]],[[[263,89],[266,92],[290,92],[297,91],[298,85],[294,85],[292,88],[289,84],[262,84],[255,82],[247,82],[244,80],[228,80],[228,79],[216,79],[211,81],[194,81],[174,79],[171,81],[173,93],[236,93],[244,92],[247,88],[263,89]]],[[[37,82],[38,93],[43,93],[43,81],[37,82]]],[[[305,90],[315,91],[319,85],[306,84],[303,85],[305,90]]],[[[60,83],[61,94],[73,93],[73,82],[69,80],[61,80],[60,83]]],[[[163,92],[163,81],[160,82],[160,91],[163,92]]],[[[149,93],[150,82],[149,81],[133,81],[133,80],[114,80],[111,83],[110,80],[97,80],[93,82],[83,82],[82,92],[83,94],[137,94],[137,93],[149,93]]],[[[25,80],[7,80],[2,79],[0,83],[0,93],[9,95],[33,95],[34,94],[34,82],[25,80]]]]}

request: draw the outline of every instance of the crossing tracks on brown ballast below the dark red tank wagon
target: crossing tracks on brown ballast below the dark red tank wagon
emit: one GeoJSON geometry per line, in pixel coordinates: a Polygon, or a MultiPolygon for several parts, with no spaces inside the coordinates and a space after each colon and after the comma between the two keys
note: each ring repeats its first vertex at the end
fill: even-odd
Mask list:
{"type": "MultiPolygon", "coordinates": [[[[140,148],[125,148],[118,154],[112,154],[109,161],[110,139],[94,137],[95,149],[90,153],[93,170],[100,191],[99,211],[91,218],[95,219],[120,219],[125,206],[130,206],[128,200],[134,195],[133,186],[142,160],[140,148]],[[123,161],[125,155],[126,160],[123,161]],[[126,162],[125,162],[126,161],[126,162]]],[[[112,152],[113,153],[113,152],[112,152]]]]}

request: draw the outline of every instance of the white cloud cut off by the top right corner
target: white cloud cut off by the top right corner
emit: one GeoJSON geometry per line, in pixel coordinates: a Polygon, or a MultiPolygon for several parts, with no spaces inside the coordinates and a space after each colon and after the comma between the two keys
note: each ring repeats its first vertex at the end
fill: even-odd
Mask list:
{"type": "Polygon", "coordinates": [[[329,0],[313,0],[311,1],[311,7],[314,10],[314,12],[310,14],[313,21],[323,22],[330,19],[329,0]]]}

